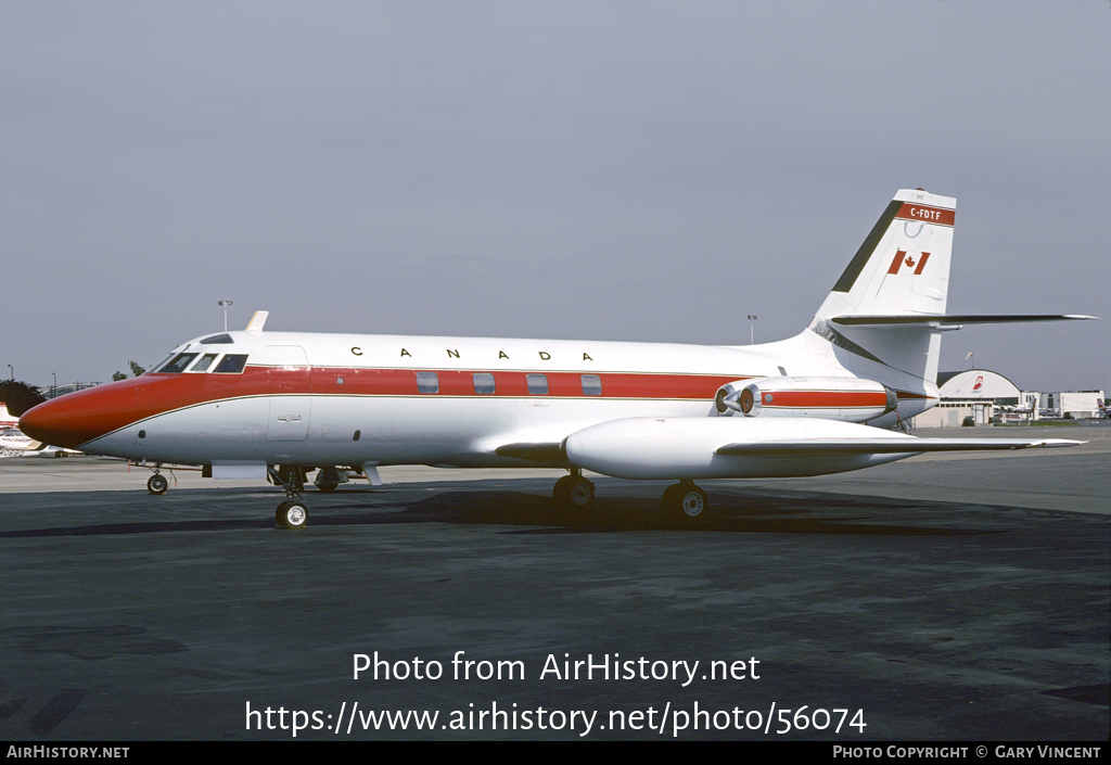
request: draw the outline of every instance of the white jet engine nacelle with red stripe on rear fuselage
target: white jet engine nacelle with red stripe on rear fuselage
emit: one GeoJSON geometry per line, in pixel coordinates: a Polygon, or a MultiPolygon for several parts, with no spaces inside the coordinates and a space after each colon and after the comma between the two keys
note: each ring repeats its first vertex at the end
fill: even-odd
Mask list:
{"type": "Polygon", "coordinates": [[[762,377],[728,383],[714,397],[718,414],[745,417],[818,417],[867,423],[894,411],[899,397],[859,377],[762,377]]]}

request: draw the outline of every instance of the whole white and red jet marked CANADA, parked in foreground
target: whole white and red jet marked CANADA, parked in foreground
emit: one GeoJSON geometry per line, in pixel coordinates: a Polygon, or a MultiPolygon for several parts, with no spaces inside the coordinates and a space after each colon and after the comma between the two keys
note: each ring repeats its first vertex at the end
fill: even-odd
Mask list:
{"type": "MultiPolygon", "coordinates": [[[[945,312],[955,200],[901,190],[810,325],[758,346],[244,331],[182,344],[141,377],[20,419],[34,438],[213,478],[270,476],[279,525],[304,526],[307,470],[383,465],[556,467],[562,507],[582,476],[670,479],[663,506],[707,507],[699,478],[813,476],[923,451],[1071,446],[914,438],[890,429],[938,403],[941,332],[1087,319],[945,312]],[[878,427],[869,427],[878,426],[878,427]]],[[[156,473],[152,493],[166,489],[156,473]],[[157,481],[161,483],[157,483],[157,481]]]]}

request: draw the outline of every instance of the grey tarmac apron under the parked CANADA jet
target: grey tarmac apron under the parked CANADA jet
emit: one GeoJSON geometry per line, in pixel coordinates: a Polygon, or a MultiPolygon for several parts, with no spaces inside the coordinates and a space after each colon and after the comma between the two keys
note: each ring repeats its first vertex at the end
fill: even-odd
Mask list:
{"type": "Polygon", "coordinates": [[[0,739],[1107,741],[1111,427],[943,433],[1090,443],[704,481],[694,525],[382,468],[300,531],[271,486],[2,459],[0,739]]]}

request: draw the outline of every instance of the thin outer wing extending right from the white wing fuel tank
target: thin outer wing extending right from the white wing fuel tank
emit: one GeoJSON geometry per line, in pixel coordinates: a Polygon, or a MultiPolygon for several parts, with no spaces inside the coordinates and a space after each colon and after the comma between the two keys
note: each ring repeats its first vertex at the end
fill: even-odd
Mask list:
{"type": "Polygon", "coordinates": [[[1051,446],[1079,446],[1088,441],[1064,438],[808,438],[727,444],[714,454],[780,457],[813,454],[921,454],[923,451],[991,451],[1051,446]]]}

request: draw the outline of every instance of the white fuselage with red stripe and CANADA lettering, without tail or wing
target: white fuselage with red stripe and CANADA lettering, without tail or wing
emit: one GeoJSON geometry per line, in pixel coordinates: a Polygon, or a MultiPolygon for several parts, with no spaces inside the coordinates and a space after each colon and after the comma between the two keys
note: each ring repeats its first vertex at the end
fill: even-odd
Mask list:
{"type": "MultiPolygon", "coordinates": [[[[141,377],[40,405],[21,425],[58,446],[154,463],[564,466],[494,449],[622,418],[715,417],[728,383],[852,376],[811,354],[822,340],[808,335],[721,347],[224,332],[141,377]]],[[[929,388],[900,391],[899,414],[932,405],[929,388]]]]}

